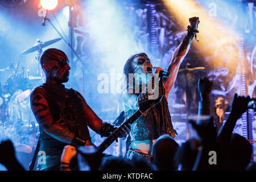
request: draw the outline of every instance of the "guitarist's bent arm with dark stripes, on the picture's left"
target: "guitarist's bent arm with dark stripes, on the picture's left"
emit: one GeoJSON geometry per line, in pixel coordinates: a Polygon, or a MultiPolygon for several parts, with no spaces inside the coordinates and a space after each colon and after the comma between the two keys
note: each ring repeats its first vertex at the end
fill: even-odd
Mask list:
{"type": "Polygon", "coordinates": [[[53,120],[43,88],[38,87],[31,93],[30,103],[36,120],[48,135],[61,142],[72,143],[75,134],[53,120]]]}

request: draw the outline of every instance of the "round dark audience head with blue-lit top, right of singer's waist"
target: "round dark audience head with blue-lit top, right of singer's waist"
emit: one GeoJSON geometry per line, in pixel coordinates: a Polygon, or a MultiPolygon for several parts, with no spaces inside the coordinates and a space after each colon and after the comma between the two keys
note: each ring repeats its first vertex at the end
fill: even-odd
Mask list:
{"type": "Polygon", "coordinates": [[[179,144],[170,135],[160,136],[153,145],[152,162],[158,170],[176,170],[174,155],[179,144]]]}

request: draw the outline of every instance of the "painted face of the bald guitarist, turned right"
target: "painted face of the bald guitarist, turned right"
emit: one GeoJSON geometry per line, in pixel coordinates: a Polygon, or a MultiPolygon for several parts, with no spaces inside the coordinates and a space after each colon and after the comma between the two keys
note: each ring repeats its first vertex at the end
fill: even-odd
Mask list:
{"type": "Polygon", "coordinates": [[[56,60],[51,61],[50,77],[56,82],[67,82],[69,76],[69,60],[67,56],[57,57],[56,60]]]}

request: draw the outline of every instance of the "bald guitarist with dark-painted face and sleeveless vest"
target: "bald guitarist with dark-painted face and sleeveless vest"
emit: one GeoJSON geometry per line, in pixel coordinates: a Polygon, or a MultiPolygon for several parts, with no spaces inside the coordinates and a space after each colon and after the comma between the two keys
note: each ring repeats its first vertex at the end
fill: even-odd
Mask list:
{"type": "MultiPolygon", "coordinates": [[[[46,82],[30,96],[40,127],[40,151],[46,154],[46,160],[38,162],[38,170],[60,170],[61,153],[68,144],[93,145],[88,126],[101,137],[108,137],[116,129],[103,123],[79,92],[65,88],[63,83],[68,81],[71,69],[68,62],[67,55],[55,48],[47,49],[40,59],[46,82]]],[[[128,132],[128,128],[122,129],[121,135],[128,132]]]]}

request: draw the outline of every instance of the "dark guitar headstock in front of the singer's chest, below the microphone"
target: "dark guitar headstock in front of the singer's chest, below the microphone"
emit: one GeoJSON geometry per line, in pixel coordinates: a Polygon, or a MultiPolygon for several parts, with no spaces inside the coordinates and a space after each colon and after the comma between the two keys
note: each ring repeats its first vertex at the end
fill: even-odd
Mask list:
{"type": "Polygon", "coordinates": [[[146,110],[158,104],[163,97],[163,95],[159,96],[154,93],[142,92],[141,94],[139,94],[139,97],[137,99],[139,110],[144,113],[146,110]]]}

